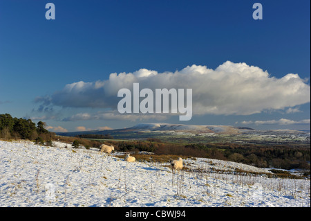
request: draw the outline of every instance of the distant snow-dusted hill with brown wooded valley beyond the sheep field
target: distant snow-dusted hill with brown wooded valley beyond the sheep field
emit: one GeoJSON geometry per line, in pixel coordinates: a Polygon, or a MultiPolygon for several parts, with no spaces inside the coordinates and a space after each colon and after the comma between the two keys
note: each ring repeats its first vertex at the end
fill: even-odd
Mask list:
{"type": "Polygon", "coordinates": [[[144,123],[120,130],[59,133],[120,151],[149,151],[229,160],[263,168],[310,170],[310,132],[248,127],[144,123]]]}

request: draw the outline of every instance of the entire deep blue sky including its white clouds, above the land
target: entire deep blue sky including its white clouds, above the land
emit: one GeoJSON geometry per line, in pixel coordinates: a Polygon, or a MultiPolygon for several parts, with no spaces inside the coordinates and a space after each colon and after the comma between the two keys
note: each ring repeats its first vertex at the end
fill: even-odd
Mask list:
{"type": "Polygon", "coordinates": [[[310,1],[0,0],[4,113],[59,132],[159,121],[310,130],[310,1]],[[55,20],[45,17],[48,2],[55,20]],[[262,20],[252,17],[255,2],[262,20]],[[142,70],[157,75],[138,78],[142,70]],[[118,114],[111,73],[120,87],[131,76],[155,88],[189,82],[191,121],[118,114]]]}

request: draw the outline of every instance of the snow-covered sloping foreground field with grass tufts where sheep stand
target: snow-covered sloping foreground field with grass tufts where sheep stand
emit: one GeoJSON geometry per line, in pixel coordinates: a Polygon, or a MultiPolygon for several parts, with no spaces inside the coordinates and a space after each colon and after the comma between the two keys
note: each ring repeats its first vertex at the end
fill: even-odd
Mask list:
{"type": "Polygon", "coordinates": [[[310,180],[202,173],[211,167],[265,171],[241,163],[187,159],[198,170],[173,175],[165,163],[129,163],[117,153],[54,145],[0,141],[0,206],[310,207],[310,180]]]}

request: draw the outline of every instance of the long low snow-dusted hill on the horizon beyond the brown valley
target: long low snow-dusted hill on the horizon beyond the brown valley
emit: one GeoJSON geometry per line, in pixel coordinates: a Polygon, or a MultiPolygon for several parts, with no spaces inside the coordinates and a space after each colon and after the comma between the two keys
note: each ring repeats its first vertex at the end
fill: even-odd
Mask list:
{"type": "Polygon", "coordinates": [[[236,142],[236,143],[310,143],[310,131],[254,130],[230,125],[184,125],[173,123],[139,123],[133,127],[115,130],[92,130],[57,133],[61,136],[81,134],[109,134],[114,139],[157,138],[162,141],[187,143],[236,142]]]}

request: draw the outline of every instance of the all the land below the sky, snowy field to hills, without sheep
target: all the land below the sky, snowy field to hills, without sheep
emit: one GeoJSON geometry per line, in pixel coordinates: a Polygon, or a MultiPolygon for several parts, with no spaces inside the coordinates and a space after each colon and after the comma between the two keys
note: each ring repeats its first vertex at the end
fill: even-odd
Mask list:
{"type": "Polygon", "coordinates": [[[310,207],[310,132],[140,124],[60,136],[44,126],[0,115],[0,206],[310,207]],[[189,139],[249,133],[273,141],[189,139]],[[178,134],[182,142],[166,140],[178,134]],[[100,154],[102,143],[115,151],[100,154]],[[184,167],[174,174],[178,157],[184,167]]]}

